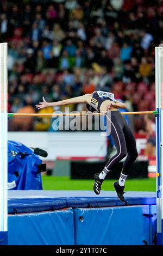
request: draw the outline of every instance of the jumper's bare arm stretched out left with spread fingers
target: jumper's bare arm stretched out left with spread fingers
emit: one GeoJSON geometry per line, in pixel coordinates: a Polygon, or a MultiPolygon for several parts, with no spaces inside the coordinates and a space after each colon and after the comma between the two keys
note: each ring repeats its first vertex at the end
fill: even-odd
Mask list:
{"type": "Polygon", "coordinates": [[[57,106],[64,106],[68,104],[77,104],[77,103],[90,103],[91,94],[85,94],[79,97],[73,97],[71,99],[56,101],[56,102],[47,102],[44,97],[42,97],[43,102],[39,102],[36,105],[37,109],[44,108],[44,107],[57,107],[57,106]]]}

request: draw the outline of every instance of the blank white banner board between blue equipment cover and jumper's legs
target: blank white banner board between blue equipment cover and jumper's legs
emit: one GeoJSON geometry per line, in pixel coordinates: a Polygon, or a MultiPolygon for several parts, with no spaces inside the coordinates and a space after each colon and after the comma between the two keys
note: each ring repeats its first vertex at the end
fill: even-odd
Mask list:
{"type": "Polygon", "coordinates": [[[10,141],[18,141],[27,147],[46,150],[47,161],[57,157],[105,157],[107,137],[104,132],[8,132],[10,141]]]}

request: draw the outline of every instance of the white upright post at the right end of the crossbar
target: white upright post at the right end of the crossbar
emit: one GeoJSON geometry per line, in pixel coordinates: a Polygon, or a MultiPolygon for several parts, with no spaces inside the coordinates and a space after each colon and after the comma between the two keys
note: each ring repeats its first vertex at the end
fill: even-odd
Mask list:
{"type": "Polygon", "coordinates": [[[163,245],[163,47],[155,47],[157,244],[163,245]]]}

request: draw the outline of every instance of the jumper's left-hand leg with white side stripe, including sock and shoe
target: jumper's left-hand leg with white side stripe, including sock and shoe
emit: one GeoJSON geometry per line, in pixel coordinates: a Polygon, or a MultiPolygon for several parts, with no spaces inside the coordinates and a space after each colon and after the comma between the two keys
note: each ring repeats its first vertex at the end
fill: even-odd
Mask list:
{"type": "MultiPolygon", "coordinates": [[[[118,114],[118,113],[117,113],[118,114]]],[[[117,115],[118,117],[118,115],[117,115]]],[[[109,118],[108,115],[106,118],[109,119],[109,124],[111,124],[111,136],[115,143],[115,147],[117,150],[117,153],[111,157],[111,159],[106,163],[103,171],[100,174],[95,174],[95,182],[93,185],[93,190],[96,194],[100,193],[101,185],[103,180],[105,179],[105,176],[110,172],[111,168],[118,162],[120,162],[126,155],[127,155],[127,148],[126,148],[126,141],[123,133],[123,124],[121,123],[121,117],[120,119],[117,119],[117,117],[109,118]]]]}

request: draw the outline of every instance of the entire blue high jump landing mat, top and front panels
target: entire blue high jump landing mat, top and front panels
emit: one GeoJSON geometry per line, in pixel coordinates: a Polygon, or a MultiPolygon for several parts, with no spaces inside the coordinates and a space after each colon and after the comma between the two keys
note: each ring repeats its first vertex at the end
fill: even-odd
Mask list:
{"type": "Polygon", "coordinates": [[[125,198],[127,206],[113,191],[8,191],[9,245],[153,245],[155,193],[125,198]]]}

